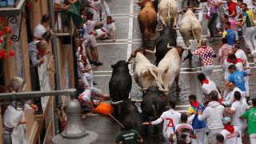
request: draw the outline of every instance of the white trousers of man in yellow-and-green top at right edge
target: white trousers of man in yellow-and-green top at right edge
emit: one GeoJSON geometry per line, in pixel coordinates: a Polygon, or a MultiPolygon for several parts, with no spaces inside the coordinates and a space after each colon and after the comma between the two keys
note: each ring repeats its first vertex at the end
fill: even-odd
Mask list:
{"type": "Polygon", "coordinates": [[[256,26],[246,27],[245,40],[246,45],[252,52],[256,48],[256,26]]]}

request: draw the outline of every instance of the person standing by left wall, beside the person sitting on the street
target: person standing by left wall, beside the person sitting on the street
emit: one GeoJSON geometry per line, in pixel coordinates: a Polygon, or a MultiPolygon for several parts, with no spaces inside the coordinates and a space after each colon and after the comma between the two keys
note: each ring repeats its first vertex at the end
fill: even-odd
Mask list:
{"type": "Polygon", "coordinates": [[[95,66],[102,66],[102,62],[98,61],[98,48],[96,39],[94,37],[94,27],[100,26],[102,23],[93,20],[93,14],[87,13],[87,22],[83,24],[83,29],[86,31],[83,35],[84,38],[88,40],[90,54],[93,58],[93,63],[95,66]]]}

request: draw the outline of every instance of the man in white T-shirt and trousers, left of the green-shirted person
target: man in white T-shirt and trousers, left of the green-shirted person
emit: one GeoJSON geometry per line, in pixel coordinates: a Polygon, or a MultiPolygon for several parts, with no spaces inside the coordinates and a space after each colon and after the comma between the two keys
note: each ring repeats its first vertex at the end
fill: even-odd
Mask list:
{"type": "MultiPolygon", "coordinates": [[[[241,94],[238,91],[234,92],[234,102],[231,105],[231,108],[226,108],[225,111],[227,114],[232,115],[232,125],[237,126],[238,130],[241,131],[241,137],[244,136],[244,131],[246,130],[247,124],[245,119],[240,119],[239,117],[249,110],[250,106],[246,102],[241,101],[241,94]]],[[[242,142],[242,138],[238,138],[239,142],[242,142]]],[[[244,142],[244,141],[243,141],[244,142]]]]}

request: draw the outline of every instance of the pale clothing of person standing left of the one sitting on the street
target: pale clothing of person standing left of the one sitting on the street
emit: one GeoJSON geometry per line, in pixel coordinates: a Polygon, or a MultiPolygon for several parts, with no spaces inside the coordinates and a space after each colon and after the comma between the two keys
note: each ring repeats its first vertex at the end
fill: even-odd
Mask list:
{"type": "Polygon", "coordinates": [[[94,27],[96,26],[96,21],[88,20],[83,24],[83,29],[85,30],[84,38],[88,40],[88,45],[91,47],[96,47],[96,39],[94,37],[94,27]]]}

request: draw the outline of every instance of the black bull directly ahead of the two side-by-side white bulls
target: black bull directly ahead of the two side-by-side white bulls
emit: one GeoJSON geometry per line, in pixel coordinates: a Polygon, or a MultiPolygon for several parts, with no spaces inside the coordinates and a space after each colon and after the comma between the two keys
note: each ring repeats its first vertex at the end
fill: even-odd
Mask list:
{"type": "Polygon", "coordinates": [[[165,26],[163,30],[160,31],[160,36],[154,41],[155,49],[155,65],[165,57],[166,53],[170,50],[167,46],[177,46],[177,32],[174,28],[170,26],[165,26]]]}

